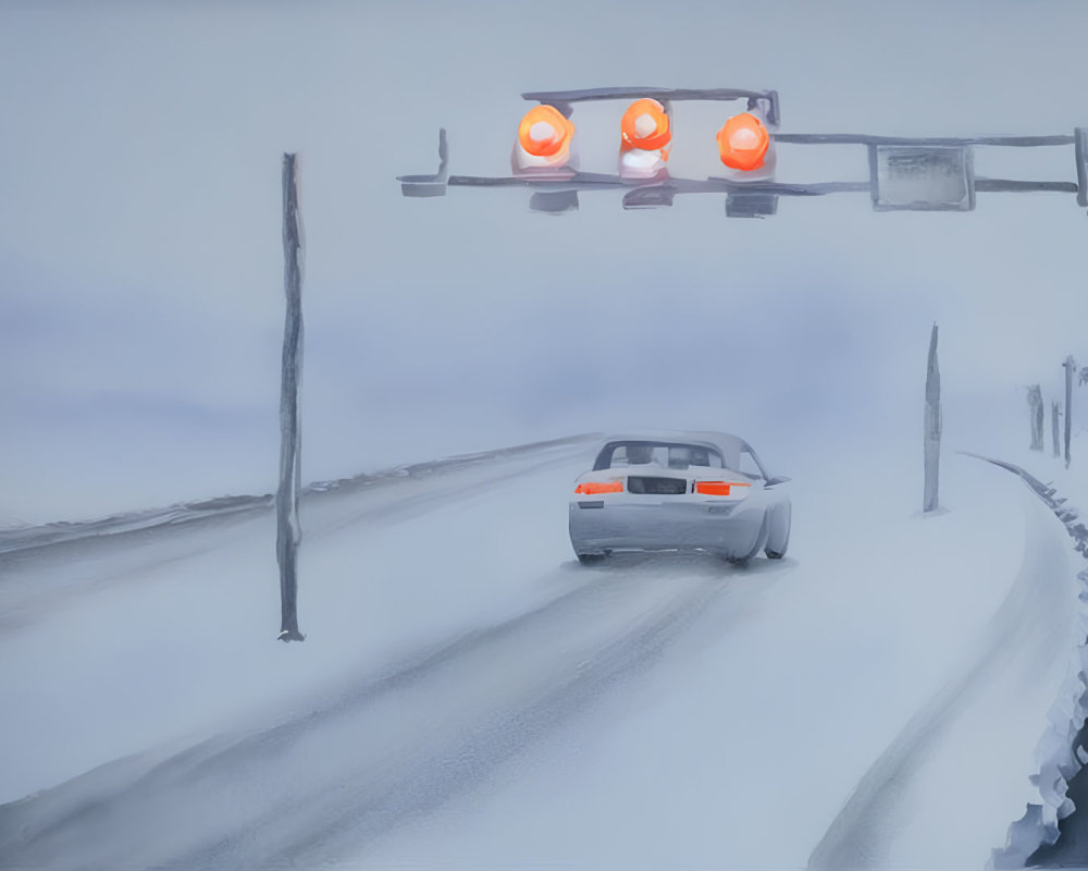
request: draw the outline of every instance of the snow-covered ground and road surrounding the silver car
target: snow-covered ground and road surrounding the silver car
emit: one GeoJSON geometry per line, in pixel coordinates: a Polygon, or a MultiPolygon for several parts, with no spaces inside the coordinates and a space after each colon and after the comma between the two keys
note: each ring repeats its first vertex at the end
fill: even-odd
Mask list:
{"type": "Polygon", "coordinates": [[[920,445],[814,451],[765,457],[781,563],[583,568],[592,444],[318,488],[301,645],[267,507],[12,533],[0,867],[985,867],[1083,640],[1050,511],[947,451],[922,517],[920,445]]]}

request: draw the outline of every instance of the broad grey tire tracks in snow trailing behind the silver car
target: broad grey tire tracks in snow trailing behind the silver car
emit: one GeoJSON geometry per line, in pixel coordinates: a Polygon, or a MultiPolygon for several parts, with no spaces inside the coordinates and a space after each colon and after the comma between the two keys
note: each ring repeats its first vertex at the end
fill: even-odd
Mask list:
{"type": "MultiPolygon", "coordinates": [[[[588,573],[543,608],[311,713],[0,808],[0,868],[310,868],[358,855],[647,671],[712,601],[782,574],[738,590],[744,576],[728,569],[588,573]]],[[[742,618],[737,606],[722,617],[742,618]]]]}

